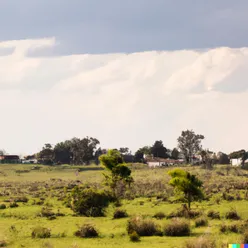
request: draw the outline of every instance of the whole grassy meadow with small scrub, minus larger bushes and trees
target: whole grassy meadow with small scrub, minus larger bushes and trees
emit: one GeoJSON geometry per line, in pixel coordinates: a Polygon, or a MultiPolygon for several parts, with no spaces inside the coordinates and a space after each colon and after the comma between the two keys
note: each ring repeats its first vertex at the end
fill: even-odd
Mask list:
{"type": "Polygon", "coordinates": [[[205,199],[194,202],[192,215],[186,216],[183,203],[168,184],[167,172],[171,168],[130,165],[134,183],[121,206],[111,204],[104,217],[93,218],[76,215],[64,202],[76,185],[101,189],[101,166],[33,167],[0,165],[0,247],[227,247],[229,243],[241,243],[247,230],[248,172],[240,168],[183,167],[204,182],[205,192],[205,199]],[[114,219],[116,209],[125,210],[128,216],[114,219]],[[159,234],[131,242],[127,223],[135,216],[153,223],[159,234]],[[189,223],[189,235],[163,233],[166,225],[178,219],[189,223]],[[99,237],[76,237],[75,232],[84,223],[94,225],[99,237]],[[51,236],[33,238],[32,231],[37,226],[48,228],[51,236]],[[203,243],[208,246],[201,246],[203,243]]]}

